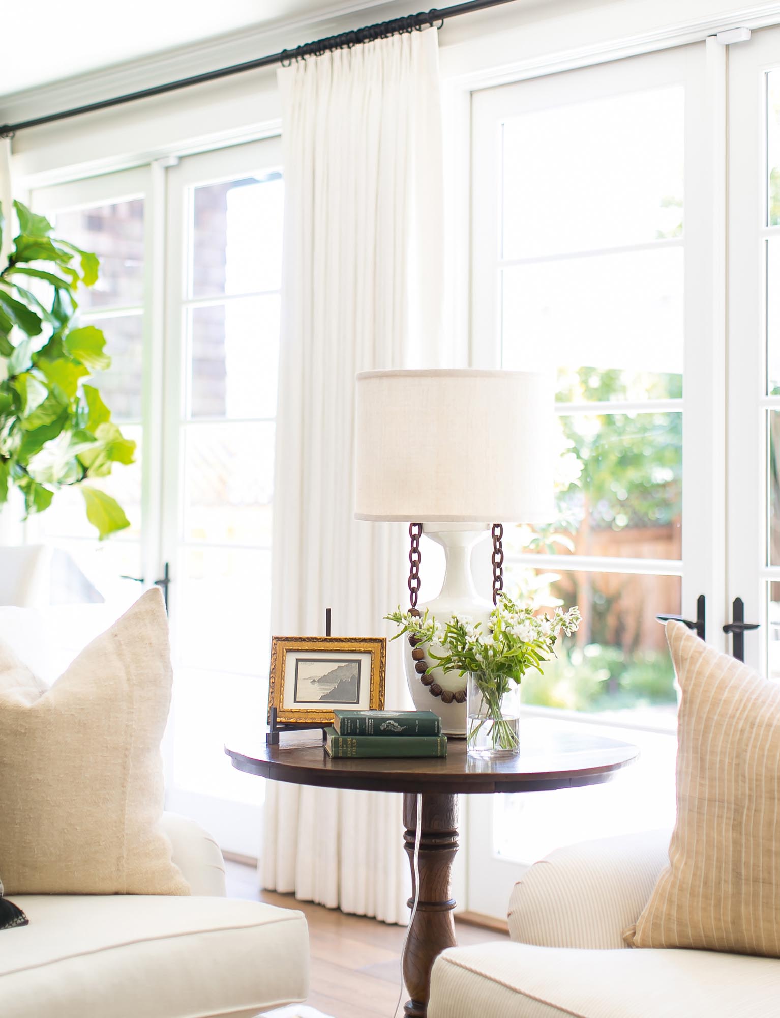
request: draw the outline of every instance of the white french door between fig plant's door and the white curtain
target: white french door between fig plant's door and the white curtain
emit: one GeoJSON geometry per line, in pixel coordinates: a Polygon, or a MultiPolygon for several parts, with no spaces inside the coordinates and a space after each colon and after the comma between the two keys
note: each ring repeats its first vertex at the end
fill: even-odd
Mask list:
{"type": "Polygon", "coordinates": [[[166,549],[175,664],[172,808],[254,856],[263,784],[225,744],[267,695],[283,181],[276,142],[169,174],[166,549]],[[177,268],[184,266],[184,272],[177,268]]]}

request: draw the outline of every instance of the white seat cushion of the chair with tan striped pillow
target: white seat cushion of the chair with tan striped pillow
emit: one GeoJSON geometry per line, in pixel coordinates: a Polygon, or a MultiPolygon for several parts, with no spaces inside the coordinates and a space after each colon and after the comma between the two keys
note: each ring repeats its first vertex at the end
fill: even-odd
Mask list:
{"type": "Polygon", "coordinates": [[[766,1018],[778,1000],[766,958],[500,942],[439,956],[428,1018],[766,1018]]]}

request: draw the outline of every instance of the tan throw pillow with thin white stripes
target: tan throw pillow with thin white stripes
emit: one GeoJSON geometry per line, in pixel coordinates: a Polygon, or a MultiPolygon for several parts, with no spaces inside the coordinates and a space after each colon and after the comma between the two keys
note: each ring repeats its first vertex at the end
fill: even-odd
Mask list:
{"type": "Polygon", "coordinates": [[[669,865],[625,941],[780,957],[780,687],[682,623],[666,636],[682,690],[669,865]]]}

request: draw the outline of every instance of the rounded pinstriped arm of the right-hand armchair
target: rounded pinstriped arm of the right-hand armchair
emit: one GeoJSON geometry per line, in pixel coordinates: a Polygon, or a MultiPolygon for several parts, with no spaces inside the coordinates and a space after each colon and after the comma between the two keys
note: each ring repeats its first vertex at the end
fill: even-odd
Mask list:
{"type": "Polygon", "coordinates": [[[669,862],[669,832],[586,841],[551,852],[515,885],[509,936],[554,948],[624,948],[669,862]]]}

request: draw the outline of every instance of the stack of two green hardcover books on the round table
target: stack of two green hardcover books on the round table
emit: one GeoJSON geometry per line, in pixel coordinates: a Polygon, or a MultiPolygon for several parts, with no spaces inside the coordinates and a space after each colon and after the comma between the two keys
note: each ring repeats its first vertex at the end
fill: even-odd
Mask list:
{"type": "Polygon", "coordinates": [[[446,756],[441,719],[432,711],[334,711],[325,730],[331,756],[446,756]]]}

